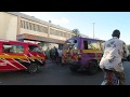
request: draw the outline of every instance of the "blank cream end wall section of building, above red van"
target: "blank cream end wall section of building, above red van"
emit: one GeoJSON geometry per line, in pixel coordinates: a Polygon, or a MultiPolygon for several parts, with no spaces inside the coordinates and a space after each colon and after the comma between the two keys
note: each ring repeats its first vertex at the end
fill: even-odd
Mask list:
{"type": "Polygon", "coordinates": [[[0,12],[0,39],[16,40],[17,16],[0,12]]]}

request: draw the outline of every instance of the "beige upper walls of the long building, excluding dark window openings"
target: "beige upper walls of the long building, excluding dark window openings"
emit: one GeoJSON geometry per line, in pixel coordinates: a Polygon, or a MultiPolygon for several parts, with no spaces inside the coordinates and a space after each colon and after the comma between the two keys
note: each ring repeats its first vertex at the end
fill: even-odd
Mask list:
{"type": "MultiPolygon", "coordinates": [[[[53,26],[52,24],[47,23],[40,23],[37,20],[32,20],[31,17],[27,18],[26,16],[23,17],[21,14],[9,14],[6,12],[0,12],[0,39],[6,39],[6,40],[16,40],[17,34],[28,33],[34,36],[40,36],[51,39],[57,39],[65,41],[66,39],[70,38],[74,33],[69,32],[70,30],[64,30],[62,27],[53,26]],[[47,31],[36,31],[30,30],[29,28],[23,28],[22,20],[39,25],[47,28],[47,31]],[[18,22],[18,23],[17,23],[18,22]],[[20,24],[20,25],[17,25],[20,24]],[[53,29],[53,31],[51,31],[53,29]],[[60,32],[58,34],[55,32],[60,32]],[[60,36],[61,32],[64,34],[60,36]]],[[[55,45],[56,46],[56,45],[55,45]]]]}

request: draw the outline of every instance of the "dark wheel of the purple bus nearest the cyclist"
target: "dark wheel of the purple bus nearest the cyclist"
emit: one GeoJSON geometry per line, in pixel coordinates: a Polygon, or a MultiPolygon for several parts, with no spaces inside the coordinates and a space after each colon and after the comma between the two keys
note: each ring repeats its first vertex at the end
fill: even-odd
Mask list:
{"type": "Polygon", "coordinates": [[[88,70],[89,70],[89,74],[90,75],[93,75],[98,72],[98,63],[96,61],[90,61],[89,63],[89,67],[88,67],[88,70]]]}

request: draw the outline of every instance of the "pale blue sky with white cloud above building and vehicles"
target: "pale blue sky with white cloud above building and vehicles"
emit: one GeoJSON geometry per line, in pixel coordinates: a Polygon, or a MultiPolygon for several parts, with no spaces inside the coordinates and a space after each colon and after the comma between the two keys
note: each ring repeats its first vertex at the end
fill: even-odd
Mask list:
{"type": "Polygon", "coordinates": [[[60,25],[67,29],[78,29],[90,38],[108,40],[115,29],[120,30],[120,39],[130,44],[130,12],[22,12],[36,18],[60,25]],[[93,24],[94,23],[94,24],[93,24]],[[94,29],[94,31],[93,31],[94,29]]]}

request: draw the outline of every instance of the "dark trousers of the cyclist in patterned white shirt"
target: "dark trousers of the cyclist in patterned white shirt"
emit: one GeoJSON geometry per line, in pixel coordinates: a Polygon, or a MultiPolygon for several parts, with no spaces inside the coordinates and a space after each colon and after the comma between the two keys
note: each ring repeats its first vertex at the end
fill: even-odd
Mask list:
{"type": "Polygon", "coordinates": [[[106,82],[105,85],[114,85],[113,80],[114,75],[119,80],[119,85],[126,85],[125,84],[125,72],[117,72],[115,70],[107,70],[103,69],[104,71],[104,81],[106,82]]]}

